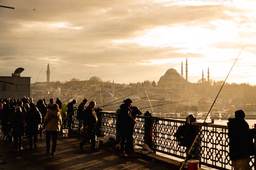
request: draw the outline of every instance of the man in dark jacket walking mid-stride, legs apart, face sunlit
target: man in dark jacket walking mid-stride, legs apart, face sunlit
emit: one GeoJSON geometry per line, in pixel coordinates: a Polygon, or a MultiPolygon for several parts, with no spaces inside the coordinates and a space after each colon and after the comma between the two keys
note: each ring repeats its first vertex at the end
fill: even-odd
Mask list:
{"type": "Polygon", "coordinates": [[[98,151],[95,148],[95,140],[96,140],[96,131],[97,131],[97,122],[98,117],[96,115],[95,110],[96,102],[91,101],[89,106],[85,110],[84,117],[84,129],[87,130],[88,136],[84,137],[84,139],[79,143],[79,147],[83,152],[83,145],[91,140],[92,151],[98,151]]]}

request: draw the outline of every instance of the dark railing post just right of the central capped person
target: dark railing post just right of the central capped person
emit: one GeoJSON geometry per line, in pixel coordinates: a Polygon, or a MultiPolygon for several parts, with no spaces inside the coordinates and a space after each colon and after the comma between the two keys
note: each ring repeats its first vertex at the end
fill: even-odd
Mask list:
{"type": "Polygon", "coordinates": [[[145,112],[144,121],[144,143],[155,152],[153,149],[153,117],[149,111],[145,112]]]}

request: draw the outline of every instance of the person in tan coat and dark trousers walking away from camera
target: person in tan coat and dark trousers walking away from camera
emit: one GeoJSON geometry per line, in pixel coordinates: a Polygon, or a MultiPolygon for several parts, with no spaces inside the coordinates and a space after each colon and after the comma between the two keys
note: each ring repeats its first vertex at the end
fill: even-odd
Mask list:
{"type": "Polygon", "coordinates": [[[53,104],[52,109],[48,110],[45,117],[45,131],[46,131],[46,153],[50,154],[50,140],[52,136],[52,155],[55,155],[57,146],[57,136],[60,132],[62,123],[59,107],[53,104]]]}

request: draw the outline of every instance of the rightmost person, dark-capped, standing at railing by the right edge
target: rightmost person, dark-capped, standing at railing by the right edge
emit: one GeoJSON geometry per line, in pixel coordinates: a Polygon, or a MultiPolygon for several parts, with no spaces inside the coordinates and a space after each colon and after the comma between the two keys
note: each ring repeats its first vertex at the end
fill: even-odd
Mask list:
{"type": "Polygon", "coordinates": [[[253,136],[255,128],[249,129],[243,110],[234,112],[235,118],[228,119],[229,157],[234,170],[250,169],[250,155],[255,155],[253,136]]]}

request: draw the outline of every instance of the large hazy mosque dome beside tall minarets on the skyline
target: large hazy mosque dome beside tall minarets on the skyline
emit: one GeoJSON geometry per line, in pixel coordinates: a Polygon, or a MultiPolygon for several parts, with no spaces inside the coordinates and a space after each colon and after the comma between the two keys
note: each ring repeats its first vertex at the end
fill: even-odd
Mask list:
{"type": "Polygon", "coordinates": [[[168,69],[165,74],[159,79],[159,87],[167,87],[173,85],[183,85],[186,80],[180,76],[180,74],[174,68],[168,69]]]}

